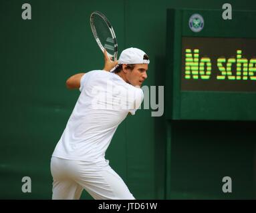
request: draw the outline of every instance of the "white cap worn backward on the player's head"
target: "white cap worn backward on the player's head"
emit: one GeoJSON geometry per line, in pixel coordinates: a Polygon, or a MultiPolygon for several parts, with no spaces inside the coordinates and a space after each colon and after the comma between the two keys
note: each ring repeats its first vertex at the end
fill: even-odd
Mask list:
{"type": "Polygon", "coordinates": [[[118,65],[126,64],[149,64],[149,60],[143,59],[144,51],[138,49],[138,48],[128,48],[122,51],[119,59],[118,59],[118,65]]]}

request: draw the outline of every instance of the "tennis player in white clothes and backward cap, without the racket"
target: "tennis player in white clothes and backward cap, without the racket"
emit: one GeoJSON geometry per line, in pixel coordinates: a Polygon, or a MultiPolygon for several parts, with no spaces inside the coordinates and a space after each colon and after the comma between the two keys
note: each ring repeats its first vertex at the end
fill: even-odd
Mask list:
{"type": "Polygon", "coordinates": [[[66,81],[68,89],[81,93],[51,157],[53,199],[80,199],[83,189],[94,199],[134,199],[105,152],[118,125],[142,103],[140,87],[150,61],[136,48],[122,51],[118,61],[106,51],[104,58],[104,70],[66,81]]]}

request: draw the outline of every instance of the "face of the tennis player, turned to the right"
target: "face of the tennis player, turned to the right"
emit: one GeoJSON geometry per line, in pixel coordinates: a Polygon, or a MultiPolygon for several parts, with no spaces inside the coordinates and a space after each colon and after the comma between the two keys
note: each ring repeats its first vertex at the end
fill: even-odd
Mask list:
{"type": "Polygon", "coordinates": [[[126,79],[134,87],[141,87],[142,83],[147,78],[146,71],[148,70],[147,64],[135,65],[132,71],[126,73],[126,79]]]}

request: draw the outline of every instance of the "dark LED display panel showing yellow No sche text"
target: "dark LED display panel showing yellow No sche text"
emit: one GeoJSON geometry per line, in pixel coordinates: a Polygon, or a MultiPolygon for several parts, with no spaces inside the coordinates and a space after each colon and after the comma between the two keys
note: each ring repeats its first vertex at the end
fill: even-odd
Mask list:
{"type": "Polygon", "coordinates": [[[256,39],[182,37],[182,91],[256,92],[256,39]]]}

